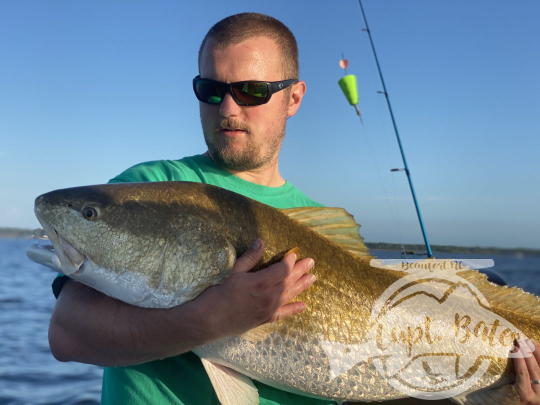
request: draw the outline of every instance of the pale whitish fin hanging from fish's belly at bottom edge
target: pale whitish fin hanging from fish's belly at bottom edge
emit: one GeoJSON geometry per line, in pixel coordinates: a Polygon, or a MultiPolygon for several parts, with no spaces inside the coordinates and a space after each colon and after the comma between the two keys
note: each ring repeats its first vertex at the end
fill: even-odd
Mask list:
{"type": "Polygon", "coordinates": [[[221,405],[259,404],[259,391],[249,377],[203,358],[201,362],[221,405]]]}

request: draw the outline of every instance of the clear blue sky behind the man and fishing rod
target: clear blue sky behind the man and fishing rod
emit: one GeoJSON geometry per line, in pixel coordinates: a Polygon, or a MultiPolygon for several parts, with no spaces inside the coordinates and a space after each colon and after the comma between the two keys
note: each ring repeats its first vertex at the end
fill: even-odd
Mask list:
{"type": "MultiPolygon", "coordinates": [[[[540,248],[540,3],[364,0],[431,244],[540,248]]],[[[356,1],[0,3],[0,226],[38,227],[33,199],[136,163],[205,151],[191,89],[219,19],[293,31],[301,109],[282,175],[345,207],[368,241],[420,243],[356,1]],[[342,95],[341,52],[365,125],[342,95]],[[379,173],[379,174],[377,174],[379,173]]]]}

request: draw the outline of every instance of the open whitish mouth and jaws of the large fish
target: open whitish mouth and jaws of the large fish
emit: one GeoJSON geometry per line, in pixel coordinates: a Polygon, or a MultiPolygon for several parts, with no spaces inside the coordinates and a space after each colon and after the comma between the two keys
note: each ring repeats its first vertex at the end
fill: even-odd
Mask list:
{"type": "Polygon", "coordinates": [[[53,271],[70,275],[77,272],[84,264],[85,255],[71,246],[55,228],[40,215],[39,207],[35,207],[36,217],[49,236],[51,245],[37,244],[26,249],[26,255],[40,265],[51,268],[53,271]]]}

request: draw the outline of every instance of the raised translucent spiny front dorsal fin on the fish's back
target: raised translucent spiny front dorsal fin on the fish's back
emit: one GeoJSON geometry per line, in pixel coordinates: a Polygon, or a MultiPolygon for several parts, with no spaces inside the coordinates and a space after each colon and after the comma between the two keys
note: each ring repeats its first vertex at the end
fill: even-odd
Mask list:
{"type": "Polygon", "coordinates": [[[353,215],[343,208],[299,207],[281,210],[289,217],[320,233],[323,237],[340,245],[359,257],[370,258],[364,238],[360,236],[360,225],[353,215]]]}

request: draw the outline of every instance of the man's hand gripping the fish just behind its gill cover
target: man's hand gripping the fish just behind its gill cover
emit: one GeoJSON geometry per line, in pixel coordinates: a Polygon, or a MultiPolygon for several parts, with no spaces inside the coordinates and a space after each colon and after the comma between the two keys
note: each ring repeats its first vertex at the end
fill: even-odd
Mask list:
{"type": "Polygon", "coordinates": [[[204,310],[200,316],[206,317],[216,328],[226,330],[226,335],[244,333],[262,323],[287,318],[306,308],[304,302],[289,301],[315,281],[313,274],[305,274],[313,267],[313,259],[296,262],[296,254],[289,253],[279,263],[258,272],[249,272],[263,253],[262,241],[255,240],[238,258],[224,284],[206,289],[197,298],[199,303],[203,300],[208,302],[208,305],[200,307],[204,310]]]}

